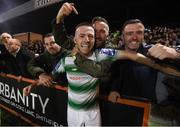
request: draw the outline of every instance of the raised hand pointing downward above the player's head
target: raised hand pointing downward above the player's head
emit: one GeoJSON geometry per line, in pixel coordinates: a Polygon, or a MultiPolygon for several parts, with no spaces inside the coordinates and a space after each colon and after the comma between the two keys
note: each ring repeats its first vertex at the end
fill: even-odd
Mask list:
{"type": "Polygon", "coordinates": [[[59,12],[56,16],[56,23],[60,23],[65,16],[70,15],[72,12],[78,15],[78,11],[74,7],[74,3],[64,3],[62,7],[59,9],[59,12]]]}

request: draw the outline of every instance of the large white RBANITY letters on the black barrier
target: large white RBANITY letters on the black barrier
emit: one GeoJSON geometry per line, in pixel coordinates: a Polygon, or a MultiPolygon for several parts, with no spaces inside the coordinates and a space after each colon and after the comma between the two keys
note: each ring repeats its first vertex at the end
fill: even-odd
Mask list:
{"type": "MultiPolygon", "coordinates": [[[[40,95],[35,94],[35,93],[30,93],[29,96],[25,96],[25,95],[23,95],[23,93],[20,92],[20,90],[18,88],[15,90],[13,86],[10,87],[8,84],[4,84],[2,82],[0,82],[0,95],[3,95],[6,98],[9,98],[10,100],[15,101],[17,103],[22,103],[26,107],[31,107],[33,110],[35,110],[36,103],[37,103],[37,101],[39,101],[41,104],[41,109],[42,109],[41,112],[43,114],[46,113],[46,107],[49,102],[49,98],[46,98],[45,100],[43,100],[40,95]],[[31,105],[29,104],[30,98],[32,100],[31,105]]],[[[5,102],[7,102],[7,100],[5,100],[5,102]]],[[[12,105],[15,105],[15,104],[12,103],[12,105]]],[[[18,109],[24,111],[24,109],[20,108],[19,106],[16,106],[16,107],[18,109]]]]}

